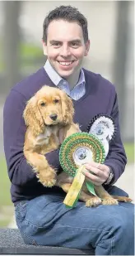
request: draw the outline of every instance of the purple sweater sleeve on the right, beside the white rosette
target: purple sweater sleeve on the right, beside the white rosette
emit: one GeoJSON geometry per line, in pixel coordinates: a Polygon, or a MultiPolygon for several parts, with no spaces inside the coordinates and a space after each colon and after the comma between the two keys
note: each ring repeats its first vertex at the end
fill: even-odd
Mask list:
{"type": "Polygon", "coordinates": [[[112,116],[112,118],[114,118],[114,121],[116,124],[116,135],[114,137],[114,140],[110,142],[109,153],[105,159],[105,165],[111,167],[114,172],[114,178],[113,178],[113,181],[111,182],[111,184],[114,184],[119,179],[119,176],[122,175],[127,163],[127,157],[126,157],[126,153],[125,153],[123,142],[121,140],[121,135],[120,135],[119,106],[118,106],[118,99],[117,99],[116,93],[115,93],[115,99],[114,99],[114,107],[110,115],[112,116]]]}

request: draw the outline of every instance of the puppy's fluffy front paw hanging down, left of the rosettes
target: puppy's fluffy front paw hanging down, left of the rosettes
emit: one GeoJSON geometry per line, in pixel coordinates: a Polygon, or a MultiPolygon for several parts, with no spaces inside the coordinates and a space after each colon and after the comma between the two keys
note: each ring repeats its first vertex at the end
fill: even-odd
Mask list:
{"type": "Polygon", "coordinates": [[[43,184],[43,186],[54,186],[56,183],[56,173],[53,168],[49,168],[48,170],[44,170],[38,174],[39,181],[43,184]]]}

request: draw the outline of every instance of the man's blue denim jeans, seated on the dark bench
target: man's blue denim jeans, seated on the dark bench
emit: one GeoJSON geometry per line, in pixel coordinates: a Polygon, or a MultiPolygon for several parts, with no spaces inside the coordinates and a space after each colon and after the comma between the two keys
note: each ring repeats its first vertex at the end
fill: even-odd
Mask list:
{"type": "MultiPolygon", "coordinates": [[[[116,186],[109,194],[127,196],[116,186]]],[[[16,224],[26,244],[95,249],[95,255],[134,254],[132,203],[73,209],[62,195],[43,195],[16,205],[16,224]]]]}

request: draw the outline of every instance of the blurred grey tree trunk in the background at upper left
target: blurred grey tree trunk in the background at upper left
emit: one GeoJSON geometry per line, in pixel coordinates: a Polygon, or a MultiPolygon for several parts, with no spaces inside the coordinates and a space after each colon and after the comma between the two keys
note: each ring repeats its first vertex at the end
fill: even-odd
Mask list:
{"type": "Polygon", "coordinates": [[[21,30],[19,17],[21,12],[20,1],[3,1],[3,61],[5,75],[5,91],[8,91],[20,77],[19,46],[21,30]]]}

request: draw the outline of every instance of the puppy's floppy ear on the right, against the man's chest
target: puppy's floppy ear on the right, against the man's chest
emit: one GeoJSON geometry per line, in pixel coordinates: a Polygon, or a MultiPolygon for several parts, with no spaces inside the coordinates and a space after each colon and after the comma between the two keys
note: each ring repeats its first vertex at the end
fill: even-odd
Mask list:
{"type": "Polygon", "coordinates": [[[63,123],[65,125],[72,123],[72,118],[74,114],[72,99],[67,96],[65,92],[60,91],[61,102],[62,102],[62,112],[63,112],[63,123]]]}

